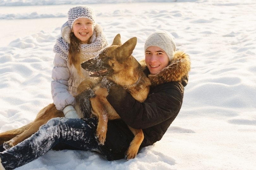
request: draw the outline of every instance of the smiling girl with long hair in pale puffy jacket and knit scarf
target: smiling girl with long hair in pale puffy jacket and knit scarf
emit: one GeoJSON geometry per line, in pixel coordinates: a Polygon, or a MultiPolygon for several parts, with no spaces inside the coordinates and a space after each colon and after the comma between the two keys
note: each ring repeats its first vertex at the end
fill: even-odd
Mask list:
{"type": "Polygon", "coordinates": [[[62,26],[53,52],[56,53],[52,69],[52,99],[57,110],[67,118],[78,118],[73,105],[78,85],[89,78],[81,63],[93,58],[108,46],[100,25],[95,23],[93,9],[76,6],[68,11],[68,22],[62,26]]]}

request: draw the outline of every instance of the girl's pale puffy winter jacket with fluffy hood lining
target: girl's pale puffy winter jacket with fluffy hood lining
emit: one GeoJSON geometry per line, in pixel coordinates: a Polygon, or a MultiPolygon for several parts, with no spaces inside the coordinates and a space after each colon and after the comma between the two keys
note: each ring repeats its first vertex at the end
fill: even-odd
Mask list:
{"type": "MultiPolygon", "coordinates": [[[[102,48],[105,48],[108,46],[107,40],[105,35],[102,33],[102,29],[100,25],[96,25],[94,27],[94,31],[96,32],[94,34],[94,40],[96,38],[101,38],[102,40],[102,48]],[[99,36],[98,36],[99,35],[99,36]]],[[[63,26],[62,28],[62,38],[65,40],[66,43],[69,43],[70,28],[68,26],[63,26]],[[68,30],[68,31],[64,31],[68,30]]],[[[88,59],[95,57],[95,56],[88,56],[84,54],[84,58],[82,59],[88,59]]],[[[88,72],[82,69],[84,77],[79,76],[76,68],[72,65],[70,66],[68,64],[68,61],[66,59],[63,59],[59,54],[55,54],[54,60],[53,60],[53,69],[52,69],[52,83],[51,83],[51,89],[52,89],[52,99],[53,103],[56,106],[57,110],[63,110],[65,106],[67,105],[74,105],[76,103],[75,97],[77,95],[77,87],[78,85],[85,79],[88,78],[88,72]]]]}

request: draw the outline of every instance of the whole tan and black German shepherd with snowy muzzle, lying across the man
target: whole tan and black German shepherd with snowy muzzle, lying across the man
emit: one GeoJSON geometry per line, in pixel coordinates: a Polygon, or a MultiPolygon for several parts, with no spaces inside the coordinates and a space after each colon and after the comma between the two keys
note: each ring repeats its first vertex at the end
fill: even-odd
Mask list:
{"type": "MultiPolygon", "coordinates": [[[[136,43],[137,38],[133,37],[122,45],[120,34],[118,34],[111,46],[102,50],[97,57],[83,62],[81,66],[87,71],[92,72],[91,77],[106,76],[108,80],[123,86],[136,100],[143,102],[149,93],[150,81],[143,73],[141,65],[131,55],[136,43]]],[[[86,79],[81,82],[78,87],[78,95],[75,97],[78,102],[76,102],[74,107],[80,118],[85,117],[80,107],[84,105],[83,96],[91,96],[88,89],[94,90],[95,95],[90,99],[91,105],[88,108],[92,110],[92,115],[98,117],[95,137],[98,139],[99,144],[104,144],[107,120],[119,119],[120,117],[108,103],[106,99],[108,92],[106,88],[101,87],[101,79],[86,79]]],[[[5,149],[9,149],[30,137],[38,131],[41,125],[54,117],[64,117],[64,114],[62,111],[57,110],[54,104],[50,104],[39,111],[33,122],[18,129],[0,133],[0,144],[3,144],[5,149]]],[[[135,137],[126,151],[126,160],[137,156],[139,146],[144,138],[141,129],[129,128],[135,137]]]]}

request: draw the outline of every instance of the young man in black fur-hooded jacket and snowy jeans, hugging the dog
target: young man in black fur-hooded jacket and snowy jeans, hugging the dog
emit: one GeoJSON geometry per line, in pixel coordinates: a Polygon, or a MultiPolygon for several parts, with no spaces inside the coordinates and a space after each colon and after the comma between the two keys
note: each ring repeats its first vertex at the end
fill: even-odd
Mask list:
{"type": "Polygon", "coordinates": [[[141,147],[159,141],[180,111],[190,71],[188,55],[175,51],[174,38],[167,31],[156,31],[146,40],[142,66],[152,85],[143,103],[135,100],[123,87],[110,86],[109,81],[101,83],[109,88],[107,100],[122,118],[108,121],[104,145],[99,145],[94,137],[96,118],[53,118],[27,140],[0,152],[0,166],[6,169],[20,167],[59,143],[79,150],[97,151],[109,161],[122,159],[134,137],[127,125],[143,130],[141,147]]]}

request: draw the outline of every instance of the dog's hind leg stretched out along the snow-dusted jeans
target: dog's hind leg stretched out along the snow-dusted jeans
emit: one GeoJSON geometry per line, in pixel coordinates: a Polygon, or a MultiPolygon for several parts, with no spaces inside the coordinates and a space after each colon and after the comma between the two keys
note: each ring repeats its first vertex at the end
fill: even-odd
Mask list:
{"type": "Polygon", "coordinates": [[[3,147],[5,149],[9,149],[15,146],[16,144],[20,143],[21,141],[29,138],[32,134],[39,130],[40,126],[42,126],[43,124],[48,122],[48,120],[54,117],[64,117],[64,114],[62,111],[57,110],[54,104],[50,104],[39,111],[33,122],[29,123],[28,125],[25,125],[27,126],[27,129],[23,133],[18,134],[14,138],[3,143],[3,147]]]}

